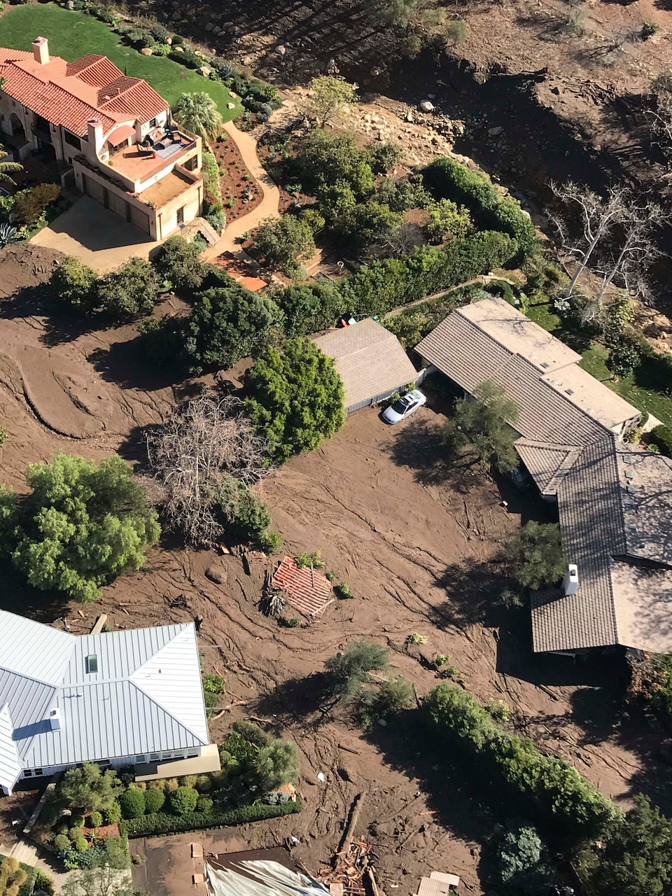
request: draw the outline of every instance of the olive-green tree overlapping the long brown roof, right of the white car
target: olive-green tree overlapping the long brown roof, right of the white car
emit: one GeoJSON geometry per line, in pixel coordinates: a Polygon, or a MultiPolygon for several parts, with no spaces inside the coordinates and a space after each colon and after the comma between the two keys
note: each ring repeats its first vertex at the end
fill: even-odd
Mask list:
{"type": "Polygon", "coordinates": [[[480,383],[473,398],[455,402],[455,412],[444,426],[444,439],[455,452],[466,452],[483,468],[493,464],[509,472],[518,466],[511,428],[518,421],[518,408],[506,398],[504,387],[492,380],[480,383]],[[511,424],[511,426],[509,426],[511,424]]]}

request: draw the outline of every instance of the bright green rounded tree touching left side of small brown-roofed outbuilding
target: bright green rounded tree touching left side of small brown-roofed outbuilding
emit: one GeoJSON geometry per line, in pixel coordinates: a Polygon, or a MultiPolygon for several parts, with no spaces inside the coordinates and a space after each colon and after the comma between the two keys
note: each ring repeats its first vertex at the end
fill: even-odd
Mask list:
{"type": "Polygon", "coordinates": [[[310,340],[266,349],[246,384],[248,413],[274,461],[314,451],[343,425],[343,383],[332,358],[310,340]]]}

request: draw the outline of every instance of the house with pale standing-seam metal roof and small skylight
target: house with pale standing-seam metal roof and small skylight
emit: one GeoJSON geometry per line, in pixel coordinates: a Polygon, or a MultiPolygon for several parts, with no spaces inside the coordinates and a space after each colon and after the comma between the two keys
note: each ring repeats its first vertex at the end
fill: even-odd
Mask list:
{"type": "Polygon", "coordinates": [[[4,793],[81,762],[146,763],[144,779],[219,769],[192,623],[74,635],[0,610],[0,631],[4,793]]]}

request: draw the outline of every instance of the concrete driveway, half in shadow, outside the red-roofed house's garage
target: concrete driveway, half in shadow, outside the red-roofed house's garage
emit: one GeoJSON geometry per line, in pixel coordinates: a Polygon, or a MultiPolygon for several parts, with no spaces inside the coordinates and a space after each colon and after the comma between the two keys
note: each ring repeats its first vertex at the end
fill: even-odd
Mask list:
{"type": "Polygon", "coordinates": [[[90,196],[78,199],[30,242],[74,255],[99,273],[119,267],[134,255],[148,258],[159,245],[90,196]]]}

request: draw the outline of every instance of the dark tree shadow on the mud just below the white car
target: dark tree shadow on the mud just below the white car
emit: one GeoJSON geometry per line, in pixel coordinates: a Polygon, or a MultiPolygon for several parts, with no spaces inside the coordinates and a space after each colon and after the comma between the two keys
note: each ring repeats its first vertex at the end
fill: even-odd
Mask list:
{"type": "Polygon", "coordinates": [[[435,422],[410,420],[383,447],[394,463],[413,470],[413,478],[423,486],[440,486],[450,480],[456,492],[468,495],[481,478],[470,458],[451,457],[442,427],[435,422]]]}

